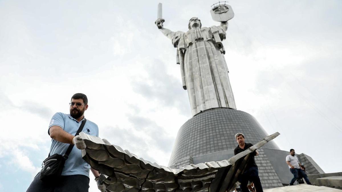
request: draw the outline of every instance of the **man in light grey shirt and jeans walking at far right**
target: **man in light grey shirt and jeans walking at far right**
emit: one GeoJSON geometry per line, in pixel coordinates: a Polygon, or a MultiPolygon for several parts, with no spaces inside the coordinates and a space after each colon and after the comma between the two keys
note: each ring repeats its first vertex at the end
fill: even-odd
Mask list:
{"type": "Polygon", "coordinates": [[[307,184],[311,185],[309,178],[307,178],[305,172],[300,168],[301,164],[299,163],[298,157],[294,154],[294,149],[290,149],[290,154],[286,156],[286,163],[289,165],[290,171],[293,174],[290,185],[293,185],[294,181],[296,181],[300,176],[305,179],[307,184]]]}

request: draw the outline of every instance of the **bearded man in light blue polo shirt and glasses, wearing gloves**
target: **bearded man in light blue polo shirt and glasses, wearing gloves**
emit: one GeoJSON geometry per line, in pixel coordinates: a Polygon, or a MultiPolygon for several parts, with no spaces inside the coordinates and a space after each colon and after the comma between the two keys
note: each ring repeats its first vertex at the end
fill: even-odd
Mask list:
{"type": "Polygon", "coordinates": [[[52,116],[48,134],[52,138],[50,154],[64,155],[70,144],[73,147],[65,161],[62,174],[59,178],[42,181],[40,172],[30,184],[27,192],[33,191],[88,191],[89,169],[95,176],[97,187],[104,192],[106,187],[100,181],[100,174],[97,170],[82,159],[80,149],[85,149],[86,144],[79,135],[75,136],[77,130],[85,121],[82,132],[98,137],[98,127],[95,123],[84,118],[84,111],[88,109],[88,98],[82,93],[76,93],[71,97],[70,114],[56,113],[52,116]]]}

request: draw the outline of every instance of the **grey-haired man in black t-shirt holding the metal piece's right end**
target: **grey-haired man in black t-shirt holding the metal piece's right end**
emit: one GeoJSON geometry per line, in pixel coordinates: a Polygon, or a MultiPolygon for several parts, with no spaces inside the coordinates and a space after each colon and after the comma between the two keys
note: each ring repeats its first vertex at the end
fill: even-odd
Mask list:
{"type": "MultiPolygon", "coordinates": [[[[238,133],[235,135],[236,142],[239,144],[234,149],[234,155],[241,153],[242,151],[245,151],[246,149],[253,146],[252,143],[245,143],[245,136],[242,133],[238,133]]],[[[259,173],[258,173],[258,166],[255,163],[254,156],[259,155],[258,151],[254,151],[251,153],[252,157],[249,158],[249,161],[247,162],[247,166],[245,169],[245,172],[242,173],[239,181],[240,181],[240,188],[242,192],[249,192],[247,188],[248,181],[251,181],[254,183],[255,190],[257,192],[263,192],[259,173]]]]}

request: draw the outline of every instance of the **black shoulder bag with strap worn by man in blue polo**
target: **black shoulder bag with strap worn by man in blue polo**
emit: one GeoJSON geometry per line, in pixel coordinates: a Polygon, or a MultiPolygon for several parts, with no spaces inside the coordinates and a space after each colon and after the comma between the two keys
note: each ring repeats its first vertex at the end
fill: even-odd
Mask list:
{"type": "MultiPolygon", "coordinates": [[[[76,135],[78,135],[86,124],[86,119],[84,119],[78,128],[76,135]]],[[[75,135],[75,136],[76,136],[75,135]]],[[[74,145],[70,144],[64,155],[53,154],[43,161],[43,167],[40,171],[40,180],[42,181],[52,181],[61,176],[65,161],[68,159],[71,150],[74,145]]]]}

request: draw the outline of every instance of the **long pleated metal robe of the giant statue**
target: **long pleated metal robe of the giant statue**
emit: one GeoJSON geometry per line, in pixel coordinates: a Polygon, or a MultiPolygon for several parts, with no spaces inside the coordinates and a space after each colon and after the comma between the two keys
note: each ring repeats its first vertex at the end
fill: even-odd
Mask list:
{"type": "Polygon", "coordinates": [[[173,34],[172,43],[177,48],[177,63],[181,65],[192,115],[216,107],[236,109],[221,43],[225,36],[221,26],[173,34]]]}

